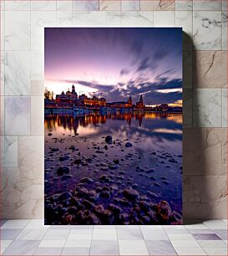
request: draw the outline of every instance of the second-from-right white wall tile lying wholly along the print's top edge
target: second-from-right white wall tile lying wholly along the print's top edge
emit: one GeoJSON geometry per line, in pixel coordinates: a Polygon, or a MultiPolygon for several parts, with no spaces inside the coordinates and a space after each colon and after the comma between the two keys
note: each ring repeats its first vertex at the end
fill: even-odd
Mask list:
{"type": "Polygon", "coordinates": [[[153,27],[153,12],[131,11],[121,13],[122,27],[153,27]]]}

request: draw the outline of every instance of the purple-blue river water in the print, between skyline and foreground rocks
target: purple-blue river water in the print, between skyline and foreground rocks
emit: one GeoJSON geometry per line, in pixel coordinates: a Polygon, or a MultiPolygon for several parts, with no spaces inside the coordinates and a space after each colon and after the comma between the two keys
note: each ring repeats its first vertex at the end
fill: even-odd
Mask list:
{"type": "MultiPolygon", "coordinates": [[[[107,208],[109,203],[116,203],[116,198],[124,198],[121,191],[133,187],[139,192],[139,197],[149,197],[148,201],[153,203],[165,200],[172,211],[181,215],[181,156],[181,114],[45,115],[47,197],[72,192],[78,184],[90,191],[112,185],[115,187],[109,199],[99,197],[95,202],[107,208]],[[113,143],[107,144],[105,136],[112,136],[113,143]],[[126,147],[127,142],[132,146],[126,147]],[[74,150],[69,149],[71,146],[74,150]],[[52,148],[58,148],[58,151],[52,151],[52,148]],[[59,161],[60,156],[68,159],[59,161]],[[73,161],[79,158],[82,165],[74,164],[73,161]],[[114,159],[118,159],[118,165],[114,164],[114,159]],[[59,166],[68,166],[68,175],[72,177],[63,180],[63,176],[58,176],[59,166]],[[110,175],[112,182],[101,182],[99,177],[103,174],[110,175]],[[81,184],[84,177],[93,179],[93,182],[81,184]],[[155,197],[151,197],[151,193],[155,197]]],[[[129,207],[122,208],[129,213],[129,207]]],[[[45,213],[47,217],[48,213],[45,213]]],[[[61,220],[58,219],[58,223],[61,220]]]]}

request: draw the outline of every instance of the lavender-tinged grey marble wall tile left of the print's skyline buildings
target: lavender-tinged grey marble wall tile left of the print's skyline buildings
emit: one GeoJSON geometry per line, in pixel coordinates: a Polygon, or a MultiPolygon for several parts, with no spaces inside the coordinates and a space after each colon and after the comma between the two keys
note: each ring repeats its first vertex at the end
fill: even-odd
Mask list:
{"type": "Polygon", "coordinates": [[[5,134],[30,135],[30,97],[5,97],[5,134]]]}

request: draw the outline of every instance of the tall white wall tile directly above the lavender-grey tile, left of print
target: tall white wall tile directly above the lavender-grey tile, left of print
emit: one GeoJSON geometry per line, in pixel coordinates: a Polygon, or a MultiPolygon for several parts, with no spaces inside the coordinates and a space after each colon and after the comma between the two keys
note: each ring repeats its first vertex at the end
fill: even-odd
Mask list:
{"type": "Polygon", "coordinates": [[[30,95],[29,52],[5,53],[5,95],[30,95]]]}

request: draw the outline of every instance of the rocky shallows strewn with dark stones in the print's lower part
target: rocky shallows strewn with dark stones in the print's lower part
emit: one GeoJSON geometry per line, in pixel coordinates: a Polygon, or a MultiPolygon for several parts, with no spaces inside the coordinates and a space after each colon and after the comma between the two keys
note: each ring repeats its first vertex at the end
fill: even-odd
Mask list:
{"type": "Polygon", "coordinates": [[[172,182],[162,173],[181,178],[181,156],[154,150],[144,159],[139,139],[111,135],[94,142],[49,131],[45,138],[45,224],[182,223],[162,192],[172,182]]]}

